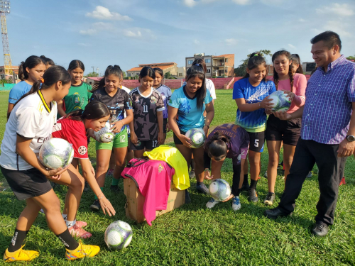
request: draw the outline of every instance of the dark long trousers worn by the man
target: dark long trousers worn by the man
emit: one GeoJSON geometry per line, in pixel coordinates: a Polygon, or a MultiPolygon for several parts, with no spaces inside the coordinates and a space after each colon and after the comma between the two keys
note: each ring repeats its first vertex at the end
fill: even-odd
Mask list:
{"type": "Polygon", "coordinates": [[[280,209],[291,213],[295,209],[295,200],[300,195],[302,184],[317,164],[320,199],[317,203],[317,223],[332,225],[337,206],[339,183],[344,172],[346,157],[338,157],[339,145],[327,145],[313,140],[298,140],[290,174],[286,179],[285,192],[281,197],[280,209]]]}

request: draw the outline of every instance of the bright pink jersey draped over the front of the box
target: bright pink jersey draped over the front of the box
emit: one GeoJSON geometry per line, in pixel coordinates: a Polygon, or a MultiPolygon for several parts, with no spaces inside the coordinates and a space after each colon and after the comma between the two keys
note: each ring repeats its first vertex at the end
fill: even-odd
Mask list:
{"type": "MultiPolygon", "coordinates": [[[[137,162],[138,159],[133,158],[130,164],[137,162]]],[[[168,203],[170,192],[170,183],[175,174],[173,167],[170,167],[164,161],[148,160],[147,162],[137,163],[137,167],[126,167],[121,176],[130,178],[138,184],[138,189],[143,196],[146,197],[143,206],[143,215],[149,226],[155,220],[155,211],[165,210],[168,203]]]]}

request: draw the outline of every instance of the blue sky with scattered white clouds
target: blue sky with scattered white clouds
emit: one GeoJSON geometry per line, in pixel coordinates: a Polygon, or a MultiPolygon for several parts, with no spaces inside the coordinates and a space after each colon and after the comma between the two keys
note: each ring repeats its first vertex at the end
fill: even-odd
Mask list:
{"type": "Polygon", "coordinates": [[[11,1],[7,23],[13,65],[45,55],[63,67],[82,60],[86,73],[153,62],[181,67],[200,52],[234,53],[237,66],[261,49],[285,48],[312,62],[310,39],[326,30],[339,33],[344,55],[355,55],[353,0],[11,1]]]}

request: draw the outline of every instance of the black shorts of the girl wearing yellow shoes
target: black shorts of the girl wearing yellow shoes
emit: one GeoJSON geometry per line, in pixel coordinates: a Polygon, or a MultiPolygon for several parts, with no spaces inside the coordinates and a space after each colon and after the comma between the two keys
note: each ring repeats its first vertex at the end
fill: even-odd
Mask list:
{"type": "Polygon", "coordinates": [[[0,169],[18,200],[40,196],[52,189],[47,177],[36,168],[9,170],[0,167],[0,169]]]}

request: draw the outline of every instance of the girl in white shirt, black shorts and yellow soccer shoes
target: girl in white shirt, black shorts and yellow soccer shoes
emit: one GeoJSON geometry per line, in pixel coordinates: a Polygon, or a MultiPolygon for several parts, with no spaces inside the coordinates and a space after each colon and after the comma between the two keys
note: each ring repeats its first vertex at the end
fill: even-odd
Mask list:
{"type": "Polygon", "coordinates": [[[37,251],[23,250],[22,244],[40,209],[45,212],[50,230],[65,245],[67,260],[93,257],[99,253],[98,246],[77,243],[60,214],[60,201],[48,178],[60,180],[69,176],[67,167],[48,170],[38,160],[40,146],[50,138],[57,118],[56,101],[62,99],[69,88],[70,74],[63,67],[50,67],[43,74],[43,80],[34,82],[31,90],[14,104],[6,123],[0,169],[17,199],[26,200],[13,239],[4,254],[7,262],[38,257],[37,251]]]}

